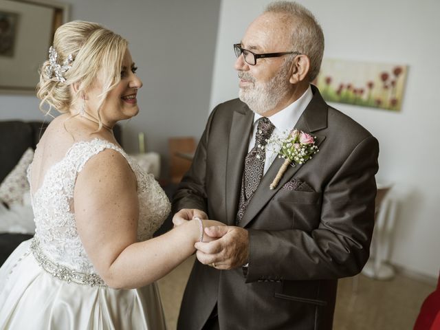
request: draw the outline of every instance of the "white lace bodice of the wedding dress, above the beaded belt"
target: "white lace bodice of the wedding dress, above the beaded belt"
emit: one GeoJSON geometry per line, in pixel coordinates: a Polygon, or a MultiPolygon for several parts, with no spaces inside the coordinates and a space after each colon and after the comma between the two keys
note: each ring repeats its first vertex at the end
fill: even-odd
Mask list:
{"type": "Polygon", "coordinates": [[[137,177],[140,208],[137,239],[150,239],[170,212],[170,202],[153,175],[144,173],[121,148],[100,139],[73,144],[65,157],[47,170],[43,184],[32,196],[32,208],[35,238],[43,254],[52,263],[84,274],[96,273],[96,270],[76,231],[72,212],[75,181],[87,160],[106,148],[120,152],[137,177]]]}

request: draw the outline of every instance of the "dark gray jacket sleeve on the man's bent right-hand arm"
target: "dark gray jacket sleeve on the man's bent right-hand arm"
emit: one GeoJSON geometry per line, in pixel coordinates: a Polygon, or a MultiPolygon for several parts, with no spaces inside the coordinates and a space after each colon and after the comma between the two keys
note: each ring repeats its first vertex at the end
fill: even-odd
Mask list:
{"type": "Polygon", "coordinates": [[[369,258],[373,234],[378,153],[379,144],[371,135],[353,148],[323,188],[320,223],[315,230],[250,228],[246,282],[358,274],[369,258]]]}

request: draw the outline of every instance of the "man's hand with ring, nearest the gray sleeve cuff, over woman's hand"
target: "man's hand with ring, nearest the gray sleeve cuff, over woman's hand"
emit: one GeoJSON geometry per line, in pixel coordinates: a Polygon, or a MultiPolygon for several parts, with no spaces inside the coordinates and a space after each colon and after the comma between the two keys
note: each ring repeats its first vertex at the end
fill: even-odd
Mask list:
{"type": "Polygon", "coordinates": [[[248,230],[230,225],[215,225],[205,228],[205,234],[217,240],[210,243],[195,243],[197,259],[201,263],[215,267],[217,270],[231,270],[248,263],[248,230]]]}

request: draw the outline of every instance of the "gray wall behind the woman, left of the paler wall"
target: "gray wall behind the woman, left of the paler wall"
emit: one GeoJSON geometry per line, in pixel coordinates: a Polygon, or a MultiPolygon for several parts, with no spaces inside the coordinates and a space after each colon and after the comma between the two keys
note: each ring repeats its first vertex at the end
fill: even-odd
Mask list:
{"type": "MultiPolygon", "coordinates": [[[[137,133],[162,155],[167,173],[170,136],[201,135],[210,100],[220,0],[71,0],[71,19],[96,21],[124,36],[144,87],[140,113],[122,122],[126,151],[137,133]]],[[[0,95],[0,120],[42,120],[35,96],[0,95]]]]}

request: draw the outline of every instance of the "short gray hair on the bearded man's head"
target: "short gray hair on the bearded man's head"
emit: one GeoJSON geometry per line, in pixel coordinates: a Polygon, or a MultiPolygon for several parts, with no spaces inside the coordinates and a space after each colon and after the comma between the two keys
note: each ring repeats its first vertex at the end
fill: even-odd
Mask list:
{"type": "Polygon", "coordinates": [[[294,26],[292,31],[293,50],[310,59],[309,81],[318,76],[324,54],[324,34],[314,14],[299,3],[276,1],[267,5],[264,12],[285,14],[294,26]],[[296,24],[294,24],[296,23],[296,24]]]}

